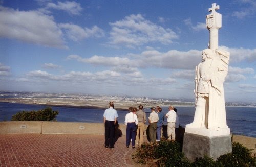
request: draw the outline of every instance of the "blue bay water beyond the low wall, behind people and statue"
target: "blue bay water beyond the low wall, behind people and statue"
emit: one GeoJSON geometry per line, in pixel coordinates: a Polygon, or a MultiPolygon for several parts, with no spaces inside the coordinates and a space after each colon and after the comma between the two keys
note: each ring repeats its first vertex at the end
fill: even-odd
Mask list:
{"type": "MultiPolygon", "coordinates": [[[[20,111],[32,111],[44,109],[44,105],[18,104],[0,102],[0,121],[10,121],[12,115],[20,111]]],[[[59,111],[57,121],[63,122],[103,122],[103,113],[105,109],[85,109],[72,107],[51,107],[54,111],[59,111]]],[[[195,107],[178,106],[179,124],[185,127],[186,124],[193,122],[195,107]]],[[[162,107],[162,112],[167,113],[168,108],[162,107]]],[[[150,109],[144,111],[147,117],[150,109]]],[[[127,111],[118,110],[118,122],[124,123],[127,111]]],[[[256,108],[255,107],[226,107],[227,125],[232,134],[246,135],[256,137],[256,108]]],[[[165,120],[165,124],[167,124],[165,120]]]]}

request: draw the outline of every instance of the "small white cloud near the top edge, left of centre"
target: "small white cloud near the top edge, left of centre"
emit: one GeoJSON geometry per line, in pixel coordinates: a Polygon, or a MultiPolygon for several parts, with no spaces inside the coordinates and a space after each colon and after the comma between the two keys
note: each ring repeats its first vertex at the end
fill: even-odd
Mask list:
{"type": "Polygon", "coordinates": [[[64,10],[73,15],[79,15],[82,11],[80,4],[76,3],[75,1],[58,1],[57,4],[50,2],[47,4],[46,9],[64,10]]]}

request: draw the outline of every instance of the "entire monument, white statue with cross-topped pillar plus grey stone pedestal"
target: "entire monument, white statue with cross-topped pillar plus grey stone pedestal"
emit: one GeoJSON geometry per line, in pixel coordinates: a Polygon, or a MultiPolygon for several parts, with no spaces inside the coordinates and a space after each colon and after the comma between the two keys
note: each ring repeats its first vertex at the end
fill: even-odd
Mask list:
{"type": "Polygon", "coordinates": [[[226,123],[223,84],[228,73],[229,52],[218,49],[218,31],[221,28],[219,5],[212,4],[206,15],[206,28],[210,31],[208,48],[202,51],[202,61],[196,66],[195,116],[187,124],[182,152],[190,160],[205,155],[217,160],[232,152],[230,129],[226,123]]]}

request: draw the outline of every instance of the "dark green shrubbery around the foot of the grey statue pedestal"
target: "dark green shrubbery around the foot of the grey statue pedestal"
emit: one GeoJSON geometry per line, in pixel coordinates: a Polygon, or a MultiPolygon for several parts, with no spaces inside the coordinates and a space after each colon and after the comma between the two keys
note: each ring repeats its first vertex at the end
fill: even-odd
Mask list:
{"type": "Polygon", "coordinates": [[[192,163],[180,151],[178,142],[161,139],[151,145],[144,143],[141,145],[133,159],[136,163],[146,164],[147,166],[209,166],[209,167],[233,167],[233,166],[256,166],[256,157],[251,156],[251,150],[239,144],[232,143],[232,153],[228,153],[217,158],[214,161],[211,157],[204,156],[196,158],[192,163]]]}

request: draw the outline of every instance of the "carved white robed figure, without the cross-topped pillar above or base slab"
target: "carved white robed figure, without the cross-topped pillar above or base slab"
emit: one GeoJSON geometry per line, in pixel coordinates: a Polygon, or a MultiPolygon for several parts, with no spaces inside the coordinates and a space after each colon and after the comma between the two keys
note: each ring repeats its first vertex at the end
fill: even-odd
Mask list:
{"type": "Polygon", "coordinates": [[[196,66],[194,121],[187,124],[186,128],[228,128],[223,89],[228,63],[228,52],[214,52],[211,49],[202,51],[202,62],[196,66]]]}

